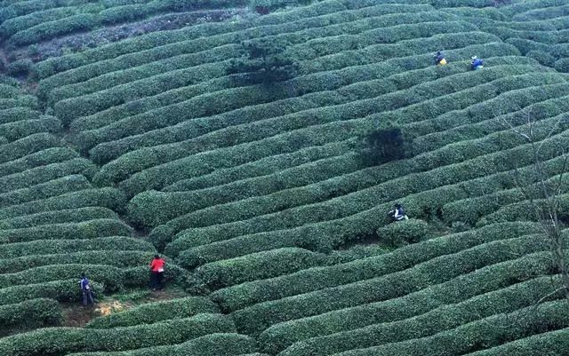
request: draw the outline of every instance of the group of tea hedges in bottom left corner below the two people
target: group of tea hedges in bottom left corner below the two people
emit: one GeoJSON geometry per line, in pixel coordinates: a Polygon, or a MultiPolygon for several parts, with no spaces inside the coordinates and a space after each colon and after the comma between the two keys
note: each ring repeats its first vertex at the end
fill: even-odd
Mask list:
{"type": "Polygon", "coordinates": [[[95,318],[86,328],[43,328],[4,337],[0,339],[0,349],[11,356],[57,356],[71,352],[156,354],[161,350],[234,355],[257,351],[254,341],[236,334],[231,318],[221,315],[205,297],[140,305],[95,318]]]}

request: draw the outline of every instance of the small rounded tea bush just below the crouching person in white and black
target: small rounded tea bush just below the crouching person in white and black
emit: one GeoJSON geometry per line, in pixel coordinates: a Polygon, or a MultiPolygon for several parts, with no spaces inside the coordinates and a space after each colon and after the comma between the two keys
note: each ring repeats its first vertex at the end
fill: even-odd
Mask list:
{"type": "Polygon", "coordinates": [[[427,222],[412,218],[381,227],[376,233],[382,242],[398,247],[429,240],[432,234],[430,230],[427,222]]]}

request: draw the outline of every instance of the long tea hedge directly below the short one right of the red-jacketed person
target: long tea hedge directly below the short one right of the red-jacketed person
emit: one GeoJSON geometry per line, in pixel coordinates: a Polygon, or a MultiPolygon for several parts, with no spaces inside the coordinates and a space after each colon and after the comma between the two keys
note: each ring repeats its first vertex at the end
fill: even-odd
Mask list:
{"type": "Polygon", "coordinates": [[[469,249],[494,240],[514,238],[526,233],[537,233],[538,228],[538,225],[531,223],[487,225],[477,230],[405,246],[376,257],[341,265],[309,268],[263,281],[250,281],[220,289],[212,293],[211,297],[224,311],[234,312],[269,300],[395,273],[431,258],[459,252],[461,249],[469,249]]]}

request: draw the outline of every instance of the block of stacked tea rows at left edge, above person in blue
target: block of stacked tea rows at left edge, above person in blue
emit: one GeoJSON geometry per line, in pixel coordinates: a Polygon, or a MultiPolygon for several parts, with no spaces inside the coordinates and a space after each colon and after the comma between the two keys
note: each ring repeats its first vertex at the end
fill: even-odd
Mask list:
{"type": "MultiPolygon", "coordinates": [[[[0,335],[59,325],[87,273],[97,294],[146,285],[156,253],[118,216],[124,194],[96,188],[98,168],[55,134],[19,83],[0,84],[0,335]]],[[[172,275],[180,273],[172,268],[172,275]]]]}

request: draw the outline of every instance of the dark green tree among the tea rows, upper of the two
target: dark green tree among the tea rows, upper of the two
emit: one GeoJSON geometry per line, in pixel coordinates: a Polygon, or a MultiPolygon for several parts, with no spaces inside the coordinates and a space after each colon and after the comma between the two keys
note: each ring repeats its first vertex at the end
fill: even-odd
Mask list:
{"type": "Polygon", "coordinates": [[[289,45],[275,39],[245,41],[243,55],[233,59],[227,74],[239,83],[258,84],[282,82],[296,76],[298,64],[286,56],[289,45]]]}

